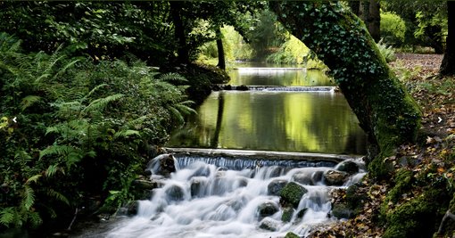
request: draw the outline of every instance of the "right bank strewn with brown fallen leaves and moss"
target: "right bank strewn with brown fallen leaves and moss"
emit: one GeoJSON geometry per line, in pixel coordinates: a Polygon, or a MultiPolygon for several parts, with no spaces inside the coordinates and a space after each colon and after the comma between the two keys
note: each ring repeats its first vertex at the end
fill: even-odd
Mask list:
{"type": "Polygon", "coordinates": [[[361,202],[356,216],[310,237],[452,237],[454,212],[455,78],[440,78],[441,55],[399,53],[390,66],[423,112],[417,144],[403,144],[390,160],[390,179],[368,176],[360,185],[334,191],[333,203],[361,202]],[[440,225],[441,226],[440,228],[440,225]],[[436,234],[438,230],[441,234],[436,234]]]}

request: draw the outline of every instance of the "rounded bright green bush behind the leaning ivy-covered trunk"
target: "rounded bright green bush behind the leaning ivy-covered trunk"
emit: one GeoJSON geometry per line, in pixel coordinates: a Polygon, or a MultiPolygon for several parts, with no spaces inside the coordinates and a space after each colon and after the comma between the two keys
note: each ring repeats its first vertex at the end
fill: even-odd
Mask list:
{"type": "Polygon", "coordinates": [[[393,12],[381,12],[381,37],[386,45],[399,47],[404,43],[406,24],[393,12]]]}

